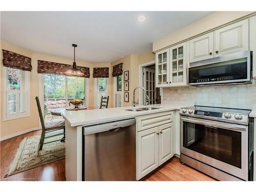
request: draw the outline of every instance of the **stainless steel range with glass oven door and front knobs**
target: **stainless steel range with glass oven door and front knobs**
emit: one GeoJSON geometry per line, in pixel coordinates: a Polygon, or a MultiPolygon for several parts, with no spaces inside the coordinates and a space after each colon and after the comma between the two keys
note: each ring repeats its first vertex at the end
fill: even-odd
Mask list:
{"type": "Polygon", "coordinates": [[[249,124],[234,123],[232,113],[191,111],[180,117],[181,162],[218,180],[250,180],[249,124]]]}

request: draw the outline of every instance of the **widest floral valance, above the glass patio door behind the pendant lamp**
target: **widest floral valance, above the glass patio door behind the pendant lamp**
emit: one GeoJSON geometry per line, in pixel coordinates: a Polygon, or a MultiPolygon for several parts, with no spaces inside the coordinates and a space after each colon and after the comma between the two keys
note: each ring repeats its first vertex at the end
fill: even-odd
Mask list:
{"type": "MultiPolygon", "coordinates": [[[[57,74],[65,75],[67,69],[72,68],[72,65],[50,62],[44,60],[37,60],[37,73],[47,73],[47,74],[57,74]]],[[[90,68],[76,66],[77,69],[80,69],[83,72],[85,78],[90,78],[90,68]]]]}

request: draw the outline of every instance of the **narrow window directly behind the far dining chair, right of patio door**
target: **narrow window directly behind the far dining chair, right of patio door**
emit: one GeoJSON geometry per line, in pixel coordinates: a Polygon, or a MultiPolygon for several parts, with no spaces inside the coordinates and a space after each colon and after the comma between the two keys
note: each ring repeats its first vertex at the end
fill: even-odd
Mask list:
{"type": "Polygon", "coordinates": [[[95,107],[100,106],[101,96],[108,96],[109,78],[94,78],[95,84],[95,107]]]}

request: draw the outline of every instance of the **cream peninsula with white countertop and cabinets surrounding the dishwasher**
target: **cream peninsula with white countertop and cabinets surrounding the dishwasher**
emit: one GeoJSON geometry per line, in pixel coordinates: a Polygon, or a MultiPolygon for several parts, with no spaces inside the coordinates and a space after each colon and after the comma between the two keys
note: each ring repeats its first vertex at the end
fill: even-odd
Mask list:
{"type": "MultiPolygon", "coordinates": [[[[66,178],[69,181],[82,181],[87,180],[84,178],[84,131],[92,125],[105,124],[107,122],[117,122],[127,119],[136,119],[136,179],[139,180],[143,176],[150,173],[152,170],[158,167],[158,164],[162,164],[175,154],[179,155],[179,111],[181,108],[194,105],[194,103],[175,102],[163,104],[147,105],[147,106],[136,106],[136,107],[121,107],[121,108],[108,108],[108,109],[95,109],[95,110],[80,110],[80,111],[66,111],[62,116],[66,119],[66,178]],[[141,111],[127,111],[141,108],[152,108],[152,110],[141,110],[141,111]],[[176,118],[177,117],[177,118],[176,118]],[[166,126],[167,125],[167,126],[166,126]],[[161,128],[162,126],[162,128],[161,128]],[[166,127],[165,127],[166,126],[166,127]],[[169,127],[171,126],[171,127],[169,127]],[[83,128],[86,127],[86,128],[83,128]],[[166,132],[163,130],[166,128],[166,132]],[[177,128],[177,130],[176,130],[177,128]],[[154,132],[154,129],[156,130],[154,132]],[[138,156],[138,150],[145,150],[140,145],[140,135],[143,132],[152,130],[154,134],[152,136],[158,136],[160,133],[170,134],[171,138],[163,140],[161,143],[169,143],[169,146],[163,154],[163,158],[153,158],[152,162],[143,162],[143,157],[138,156]],[[138,163],[138,158],[141,163],[138,163]],[[152,164],[144,170],[146,166],[144,164],[152,164]],[[142,167],[141,167],[142,166],[142,167]],[[141,170],[141,171],[140,171],[141,170]]],[[[96,127],[96,129],[101,129],[96,127]]],[[[89,129],[88,129],[89,130],[89,129]]],[[[134,130],[135,131],[135,130],[134,130]]],[[[100,131],[97,131],[99,133],[100,131]]],[[[95,133],[95,132],[94,132],[95,133]]],[[[150,134],[150,133],[148,133],[150,134]]],[[[146,133],[147,135],[147,133],[146,133]]],[[[162,134],[160,134],[162,135],[162,134]]],[[[143,135],[142,135],[143,137],[143,135]]],[[[168,137],[163,137],[165,139],[168,137]]],[[[152,138],[154,139],[154,138],[152,138]]],[[[142,141],[143,142],[143,141],[142,141]]],[[[147,142],[145,140],[145,142],[147,142]]],[[[143,145],[143,143],[142,143],[143,145]]],[[[157,144],[158,145],[158,144],[157,144]]],[[[168,145],[168,144],[167,144],[168,145]]],[[[150,147],[150,146],[148,146],[150,147]]],[[[164,146],[162,146],[164,147],[164,146]]],[[[155,146],[154,146],[155,148],[155,146]]],[[[135,150],[134,150],[135,151],[135,150]]],[[[155,155],[154,151],[145,152],[147,155],[155,155]]],[[[156,152],[155,152],[156,153],[156,152]]],[[[140,151],[143,155],[143,152],[140,151]]],[[[86,158],[86,157],[85,157],[86,158]]],[[[150,161],[150,160],[148,160],[150,161]]],[[[114,166],[114,165],[113,165],[114,166]]],[[[133,179],[132,179],[133,180],[133,179]]]]}

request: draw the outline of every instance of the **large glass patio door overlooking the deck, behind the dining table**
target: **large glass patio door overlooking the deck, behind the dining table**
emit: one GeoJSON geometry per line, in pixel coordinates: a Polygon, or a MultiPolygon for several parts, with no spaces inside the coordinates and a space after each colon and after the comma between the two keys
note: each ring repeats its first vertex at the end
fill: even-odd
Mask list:
{"type": "Polygon", "coordinates": [[[62,118],[61,116],[53,117],[49,109],[68,107],[69,101],[73,99],[81,99],[83,105],[87,105],[86,88],[88,88],[86,78],[44,74],[45,122],[62,118]]]}

